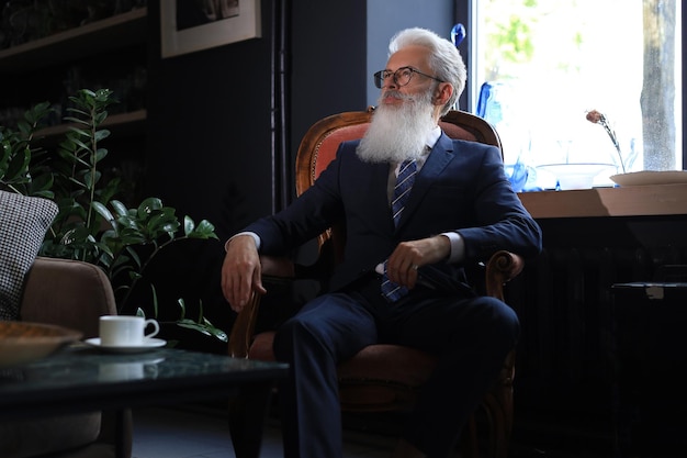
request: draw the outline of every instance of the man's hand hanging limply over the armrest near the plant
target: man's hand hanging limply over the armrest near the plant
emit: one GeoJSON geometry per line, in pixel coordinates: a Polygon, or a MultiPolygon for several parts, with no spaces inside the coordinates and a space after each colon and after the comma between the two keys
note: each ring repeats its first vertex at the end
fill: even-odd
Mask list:
{"type": "Polygon", "coordinates": [[[264,294],[260,257],[256,241],[250,235],[239,235],[228,243],[222,265],[222,292],[232,310],[240,312],[252,292],[264,294]]]}

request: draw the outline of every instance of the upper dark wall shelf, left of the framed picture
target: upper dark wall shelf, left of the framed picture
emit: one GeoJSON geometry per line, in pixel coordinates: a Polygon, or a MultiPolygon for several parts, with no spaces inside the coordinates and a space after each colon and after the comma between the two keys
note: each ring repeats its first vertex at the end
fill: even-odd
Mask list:
{"type": "Polygon", "coordinates": [[[148,10],[126,13],[81,25],[0,51],[0,74],[20,74],[92,56],[146,41],[148,10]]]}

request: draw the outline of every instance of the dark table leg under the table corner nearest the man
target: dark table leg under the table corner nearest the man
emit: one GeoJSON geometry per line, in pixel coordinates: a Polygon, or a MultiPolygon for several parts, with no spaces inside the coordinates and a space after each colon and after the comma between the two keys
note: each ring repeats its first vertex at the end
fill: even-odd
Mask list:
{"type": "Polygon", "coordinates": [[[272,383],[249,383],[229,400],[229,434],[236,458],[259,458],[272,383]]]}

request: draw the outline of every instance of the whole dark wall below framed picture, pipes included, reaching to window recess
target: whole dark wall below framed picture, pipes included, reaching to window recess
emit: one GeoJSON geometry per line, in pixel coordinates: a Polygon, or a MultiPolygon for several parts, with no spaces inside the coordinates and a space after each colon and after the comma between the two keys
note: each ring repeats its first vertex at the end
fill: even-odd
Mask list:
{"type": "Polygon", "coordinates": [[[312,123],[364,108],[365,1],[294,3],[261,2],[260,38],[167,59],[149,7],[148,193],[221,238],[291,199],[312,123]]]}

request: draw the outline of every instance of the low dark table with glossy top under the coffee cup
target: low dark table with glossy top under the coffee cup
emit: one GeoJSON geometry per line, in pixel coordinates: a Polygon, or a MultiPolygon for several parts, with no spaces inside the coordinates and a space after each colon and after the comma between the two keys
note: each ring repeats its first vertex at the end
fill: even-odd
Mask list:
{"type": "Polygon", "coordinates": [[[78,344],[3,370],[0,420],[241,398],[250,401],[251,410],[229,418],[234,447],[237,456],[257,458],[271,390],[286,370],[284,364],[222,355],[177,349],[112,355],[78,344]]]}

